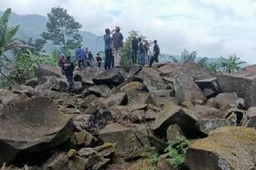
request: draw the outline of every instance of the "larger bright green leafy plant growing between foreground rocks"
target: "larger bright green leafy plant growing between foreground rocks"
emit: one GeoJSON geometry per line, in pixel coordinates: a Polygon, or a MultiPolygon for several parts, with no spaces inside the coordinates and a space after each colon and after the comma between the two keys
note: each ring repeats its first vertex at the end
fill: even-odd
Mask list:
{"type": "Polygon", "coordinates": [[[181,140],[179,143],[169,142],[165,150],[170,157],[170,163],[175,168],[181,169],[185,166],[186,150],[190,145],[187,139],[181,140]]]}

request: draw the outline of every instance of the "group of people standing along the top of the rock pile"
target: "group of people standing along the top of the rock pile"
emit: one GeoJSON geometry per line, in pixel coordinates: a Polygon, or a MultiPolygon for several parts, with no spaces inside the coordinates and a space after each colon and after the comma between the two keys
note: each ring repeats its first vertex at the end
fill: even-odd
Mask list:
{"type": "MultiPolygon", "coordinates": [[[[108,28],[105,30],[104,35],[104,68],[106,70],[111,68],[119,68],[122,56],[123,48],[123,35],[120,32],[120,27],[116,26],[113,31],[108,28]]],[[[133,37],[132,40],[132,60],[133,64],[137,63],[137,55],[140,56],[140,65],[146,65],[146,58],[149,66],[151,67],[153,62],[158,62],[158,55],[160,54],[160,48],[157,45],[157,40],[153,41],[153,48],[147,40],[142,40],[141,37],[133,37]]],[[[94,56],[88,48],[82,49],[81,46],[75,50],[75,61],[79,68],[92,67],[92,62],[95,61],[97,66],[100,68],[102,64],[102,58],[98,53],[94,60],[94,56]]],[[[75,64],[71,61],[70,56],[65,58],[64,54],[60,54],[59,65],[62,70],[62,74],[65,75],[68,83],[67,91],[70,92],[73,85],[73,72],[75,64]]]]}

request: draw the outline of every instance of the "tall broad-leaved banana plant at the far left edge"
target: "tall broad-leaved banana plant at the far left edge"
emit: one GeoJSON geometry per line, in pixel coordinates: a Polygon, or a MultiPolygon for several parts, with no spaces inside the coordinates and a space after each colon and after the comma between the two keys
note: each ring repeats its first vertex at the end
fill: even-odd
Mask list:
{"type": "MultiPolygon", "coordinates": [[[[7,8],[7,10],[3,12],[2,17],[0,18],[0,73],[5,78],[7,78],[7,76],[2,72],[2,67],[4,65],[2,64],[2,61],[3,59],[7,59],[7,57],[5,56],[4,52],[6,52],[7,50],[15,49],[22,45],[20,41],[13,40],[13,37],[14,35],[16,35],[19,26],[7,26],[11,13],[11,8],[7,8]]],[[[12,80],[10,80],[9,78],[7,79],[12,82],[12,80]]]]}

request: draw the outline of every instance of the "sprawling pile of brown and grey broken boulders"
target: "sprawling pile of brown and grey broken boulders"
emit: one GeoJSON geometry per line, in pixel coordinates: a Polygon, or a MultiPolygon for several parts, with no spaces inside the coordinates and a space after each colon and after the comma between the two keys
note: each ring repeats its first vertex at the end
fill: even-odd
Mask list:
{"type": "Polygon", "coordinates": [[[167,146],[191,141],[191,170],[256,168],[256,66],[212,75],[195,63],[60,70],[0,91],[0,165],[10,169],[176,169],[167,146]],[[145,153],[157,153],[156,163],[145,153]],[[161,155],[162,154],[162,155],[161,155]]]}

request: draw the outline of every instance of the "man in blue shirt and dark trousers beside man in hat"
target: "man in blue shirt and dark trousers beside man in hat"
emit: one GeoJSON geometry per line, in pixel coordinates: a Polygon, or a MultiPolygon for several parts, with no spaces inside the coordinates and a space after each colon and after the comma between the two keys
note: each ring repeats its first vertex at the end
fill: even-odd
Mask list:
{"type": "Polygon", "coordinates": [[[112,40],[111,40],[111,32],[109,28],[105,30],[104,35],[104,45],[105,45],[105,59],[104,59],[104,68],[108,70],[111,68],[112,61],[112,40]]]}

